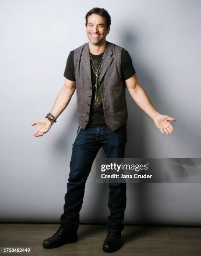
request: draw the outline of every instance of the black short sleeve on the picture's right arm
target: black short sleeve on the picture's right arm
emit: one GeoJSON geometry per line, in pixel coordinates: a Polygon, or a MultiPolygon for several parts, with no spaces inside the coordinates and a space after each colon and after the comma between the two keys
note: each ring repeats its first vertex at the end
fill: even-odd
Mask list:
{"type": "Polygon", "coordinates": [[[129,79],[135,74],[135,69],[132,65],[130,54],[125,49],[122,49],[121,51],[121,68],[124,80],[129,79]]]}

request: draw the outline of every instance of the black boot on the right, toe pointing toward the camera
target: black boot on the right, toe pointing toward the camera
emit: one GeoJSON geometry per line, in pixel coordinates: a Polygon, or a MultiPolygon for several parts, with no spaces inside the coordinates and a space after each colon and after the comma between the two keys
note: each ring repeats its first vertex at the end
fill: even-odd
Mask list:
{"type": "Polygon", "coordinates": [[[108,231],[103,243],[103,251],[113,252],[121,247],[121,232],[108,231]]]}

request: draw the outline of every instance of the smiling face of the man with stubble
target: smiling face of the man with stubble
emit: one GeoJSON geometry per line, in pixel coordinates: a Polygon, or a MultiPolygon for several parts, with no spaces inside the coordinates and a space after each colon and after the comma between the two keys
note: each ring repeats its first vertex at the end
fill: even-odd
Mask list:
{"type": "Polygon", "coordinates": [[[106,20],[98,14],[92,14],[88,17],[86,26],[87,36],[92,44],[98,45],[105,40],[109,33],[109,28],[106,28],[106,20]]]}

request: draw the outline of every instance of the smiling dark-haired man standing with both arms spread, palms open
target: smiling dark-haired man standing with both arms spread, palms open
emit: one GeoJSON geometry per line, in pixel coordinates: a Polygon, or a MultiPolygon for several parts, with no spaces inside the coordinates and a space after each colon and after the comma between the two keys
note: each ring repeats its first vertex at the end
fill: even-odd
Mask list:
{"type": "MultiPolygon", "coordinates": [[[[167,115],[160,115],[147,94],[137,82],[129,53],[120,46],[106,41],[111,19],[107,10],[93,8],[86,15],[86,32],[89,43],[71,51],[64,72],[64,87],[59,92],[51,112],[38,124],[33,136],[43,136],[56,122],[56,118],[69,104],[76,89],[79,127],[72,146],[70,173],[65,195],[64,213],[56,233],[43,241],[43,247],[54,248],[77,241],[79,212],[84,188],[92,163],[103,147],[107,158],[124,158],[127,142],[127,104],[125,87],[133,100],[153,119],[161,133],[173,132],[167,115]]],[[[107,237],[105,252],[120,248],[124,228],[126,184],[109,184],[107,237]]]]}

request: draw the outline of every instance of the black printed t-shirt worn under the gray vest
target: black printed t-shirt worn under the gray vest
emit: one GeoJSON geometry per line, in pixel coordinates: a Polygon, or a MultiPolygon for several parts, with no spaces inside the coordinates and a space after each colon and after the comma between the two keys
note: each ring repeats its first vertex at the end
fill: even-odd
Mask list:
{"type": "MultiPolygon", "coordinates": [[[[99,55],[91,54],[94,65],[96,68],[99,68],[99,65],[102,60],[102,56],[104,53],[99,55]]],[[[93,64],[92,64],[93,65],[93,64]]],[[[97,126],[107,126],[104,117],[104,110],[102,105],[102,97],[101,97],[101,90],[99,86],[99,82],[96,85],[96,76],[92,69],[91,65],[91,74],[92,74],[92,103],[90,107],[89,113],[89,123],[87,127],[97,127],[97,126]]],[[[125,49],[121,51],[121,69],[122,69],[122,79],[126,80],[132,77],[135,74],[135,69],[132,65],[132,59],[125,49]]],[[[66,68],[64,71],[64,77],[71,81],[75,81],[75,70],[74,70],[74,51],[70,51],[69,56],[66,61],[66,68]]]]}

